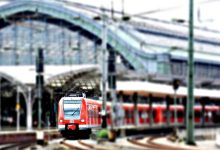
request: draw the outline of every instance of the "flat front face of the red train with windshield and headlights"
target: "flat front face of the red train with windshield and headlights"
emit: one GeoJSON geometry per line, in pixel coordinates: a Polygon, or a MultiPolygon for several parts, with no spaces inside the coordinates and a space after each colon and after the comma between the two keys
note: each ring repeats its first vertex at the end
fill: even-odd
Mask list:
{"type": "Polygon", "coordinates": [[[78,132],[85,126],[85,100],[82,97],[63,97],[58,107],[58,129],[63,136],[78,132]],[[72,131],[72,132],[71,132],[72,131]]]}

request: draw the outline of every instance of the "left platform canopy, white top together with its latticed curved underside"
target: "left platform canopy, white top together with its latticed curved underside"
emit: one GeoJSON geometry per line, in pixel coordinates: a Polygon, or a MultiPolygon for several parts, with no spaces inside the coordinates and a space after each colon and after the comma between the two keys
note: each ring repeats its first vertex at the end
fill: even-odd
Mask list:
{"type": "MultiPolygon", "coordinates": [[[[93,89],[99,84],[98,65],[46,65],[44,67],[44,85],[47,87],[62,87],[93,89]]],[[[0,76],[22,88],[34,86],[36,83],[35,66],[0,66],[0,76]]]]}

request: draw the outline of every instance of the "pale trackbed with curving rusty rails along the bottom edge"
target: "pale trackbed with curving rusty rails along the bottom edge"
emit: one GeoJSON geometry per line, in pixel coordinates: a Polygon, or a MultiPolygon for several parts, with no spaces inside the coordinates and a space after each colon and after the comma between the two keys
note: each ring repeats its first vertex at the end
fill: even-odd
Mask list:
{"type": "Polygon", "coordinates": [[[74,150],[201,150],[201,147],[192,147],[187,145],[170,145],[169,143],[161,143],[158,140],[163,137],[152,136],[149,138],[143,137],[131,137],[124,139],[124,142],[103,142],[98,144],[96,141],[65,141],[63,140],[61,144],[65,145],[69,149],[74,150]],[[127,143],[126,143],[127,141],[127,143]]]}

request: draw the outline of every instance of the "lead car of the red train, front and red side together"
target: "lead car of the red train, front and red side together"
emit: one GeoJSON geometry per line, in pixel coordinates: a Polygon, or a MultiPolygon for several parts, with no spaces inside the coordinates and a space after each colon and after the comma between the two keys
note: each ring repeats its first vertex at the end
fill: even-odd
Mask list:
{"type": "Polygon", "coordinates": [[[69,96],[62,97],[58,105],[58,129],[64,136],[79,131],[89,134],[101,124],[100,101],[69,96]]]}

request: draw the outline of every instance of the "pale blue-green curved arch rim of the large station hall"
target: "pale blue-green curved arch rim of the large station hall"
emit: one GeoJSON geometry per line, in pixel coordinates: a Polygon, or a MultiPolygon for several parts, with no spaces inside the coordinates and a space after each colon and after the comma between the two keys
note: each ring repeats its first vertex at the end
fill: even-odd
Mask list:
{"type": "MultiPolygon", "coordinates": [[[[47,20],[48,23],[57,24],[58,20],[63,21],[63,25],[72,25],[70,30],[81,29],[84,31],[85,36],[89,38],[102,39],[102,24],[79,13],[73,9],[68,9],[59,6],[57,3],[47,3],[42,1],[13,1],[0,6],[0,28],[5,28],[11,25],[10,19],[27,19],[28,16],[33,17],[35,20],[41,20],[41,15],[50,16],[47,20]],[[38,14],[38,16],[36,16],[38,14]],[[17,17],[21,15],[22,17],[17,17]]],[[[41,20],[42,21],[42,20],[41,20]]],[[[126,62],[136,71],[147,70],[147,66],[143,60],[137,56],[143,55],[140,50],[129,44],[118,34],[112,30],[108,30],[107,43],[113,48],[126,62]]],[[[15,52],[16,53],[16,52],[15,52]]]]}

